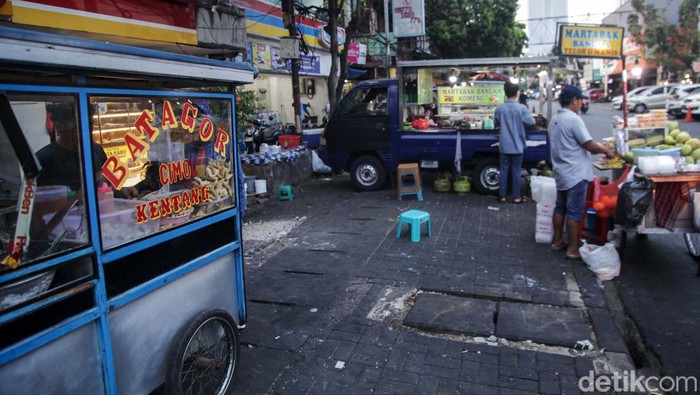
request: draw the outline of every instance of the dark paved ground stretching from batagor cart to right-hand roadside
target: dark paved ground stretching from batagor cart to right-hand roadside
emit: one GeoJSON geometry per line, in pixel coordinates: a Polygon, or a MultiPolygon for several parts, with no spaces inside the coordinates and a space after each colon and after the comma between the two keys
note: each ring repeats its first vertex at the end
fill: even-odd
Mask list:
{"type": "Polygon", "coordinates": [[[423,183],[419,202],[314,179],[291,202],[251,207],[246,222],[304,220],[243,242],[249,320],[232,393],[570,394],[591,374],[700,373],[700,278],[680,235],[630,238],[601,288],[535,242],[535,203],[423,183]],[[417,243],[406,225],[396,237],[409,209],[430,214],[417,243]]]}

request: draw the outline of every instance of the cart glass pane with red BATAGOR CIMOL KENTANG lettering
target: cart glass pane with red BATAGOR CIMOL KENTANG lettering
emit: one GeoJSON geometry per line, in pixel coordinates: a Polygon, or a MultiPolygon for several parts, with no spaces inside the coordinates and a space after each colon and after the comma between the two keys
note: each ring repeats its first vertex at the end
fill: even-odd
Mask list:
{"type": "Polygon", "coordinates": [[[92,140],[106,154],[97,194],[103,248],[235,207],[230,100],[89,102],[92,140]]]}

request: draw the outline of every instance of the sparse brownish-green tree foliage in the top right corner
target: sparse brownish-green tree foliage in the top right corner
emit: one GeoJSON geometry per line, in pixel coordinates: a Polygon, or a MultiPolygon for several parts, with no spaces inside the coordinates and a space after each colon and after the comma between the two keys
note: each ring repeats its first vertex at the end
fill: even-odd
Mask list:
{"type": "Polygon", "coordinates": [[[698,57],[698,15],[700,0],[684,0],[680,6],[680,23],[668,21],[665,10],[659,10],[644,0],[632,0],[637,14],[627,17],[629,32],[644,57],[662,65],[666,70],[688,69],[698,57]],[[641,20],[640,20],[641,17],[641,20]]]}

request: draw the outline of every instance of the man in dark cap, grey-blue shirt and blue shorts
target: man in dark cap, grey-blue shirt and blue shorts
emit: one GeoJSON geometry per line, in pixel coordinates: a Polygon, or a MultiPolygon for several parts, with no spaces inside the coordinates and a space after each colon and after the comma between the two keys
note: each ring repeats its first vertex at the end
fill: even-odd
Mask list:
{"type": "Polygon", "coordinates": [[[552,249],[566,249],[566,259],[580,260],[578,229],[586,204],[588,182],[593,179],[591,154],[614,158],[615,153],[591,138],[578,112],[583,99],[581,90],[565,85],[559,94],[561,109],[549,123],[549,147],[552,155],[554,179],[557,184],[557,202],[552,222],[554,242],[552,249]],[[564,226],[568,239],[564,240],[564,226]]]}

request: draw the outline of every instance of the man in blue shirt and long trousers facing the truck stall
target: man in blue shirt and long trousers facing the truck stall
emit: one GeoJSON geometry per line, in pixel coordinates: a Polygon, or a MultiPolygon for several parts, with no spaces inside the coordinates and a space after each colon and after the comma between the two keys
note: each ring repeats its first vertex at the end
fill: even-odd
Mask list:
{"type": "Polygon", "coordinates": [[[525,151],[525,125],[535,124],[535,118],[527,107],[518,103],[518,86],[512,82],[506,82],[504,86],[506,102],[496,108],[494,118],[501,127],[499,133],[500,150],[500,191],[498,201],[506,202],[508,194],[508,172],[511,176],[513,187],[513,203],[522,203],[523,197],[520,188],[520,169],[523,165],[523,152],[525,151]]]}

